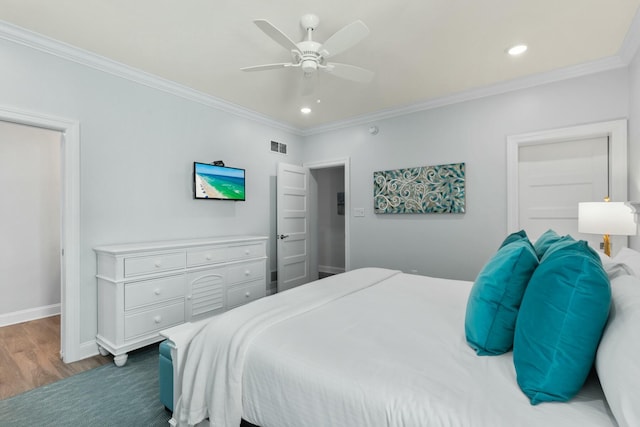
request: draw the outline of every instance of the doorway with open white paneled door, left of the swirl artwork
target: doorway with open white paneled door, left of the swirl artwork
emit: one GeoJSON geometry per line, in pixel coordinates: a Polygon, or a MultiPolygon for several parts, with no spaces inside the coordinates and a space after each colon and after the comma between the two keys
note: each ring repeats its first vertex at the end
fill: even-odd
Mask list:
{"type": "Polygon", "coordinates": [[[348,158],[303,166],[278,164],[278,292],[316,280],[320,271],[335,274],[350,270],[349,188],[348,158]],[[326,215],[322,213],[320,219],[323,210],[326,215]],[[333,231],[324,236],[320,227],[323,232],[328,227],[333,231]]]}

